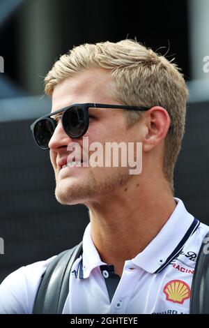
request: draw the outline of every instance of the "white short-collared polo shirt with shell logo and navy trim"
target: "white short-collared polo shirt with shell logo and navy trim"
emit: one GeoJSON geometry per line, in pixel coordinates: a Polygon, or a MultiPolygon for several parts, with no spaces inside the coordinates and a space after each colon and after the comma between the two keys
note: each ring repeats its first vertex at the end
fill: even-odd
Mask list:
{"type": "MultiPolygon", "coordinates": [[[[144,251],[125,261],[121,278],[100,260],[88,224],[63,313],[189,313],[196,256],[209,227],[175,200],[167,223],[144,251]]],[[[54,258],[21,267],[1,283],[0,313],[32,313],[40,277],[54,258]]]]}

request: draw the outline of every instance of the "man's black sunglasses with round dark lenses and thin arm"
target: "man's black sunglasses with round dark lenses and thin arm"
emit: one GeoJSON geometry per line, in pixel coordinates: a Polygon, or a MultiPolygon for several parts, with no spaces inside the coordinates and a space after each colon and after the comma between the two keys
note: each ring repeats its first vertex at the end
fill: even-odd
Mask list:
{"type": "Polygon", "coordinates": [[[121,110],[149,110],[148,107],[125,106],[125,105],[105,105],[99,103],[82,103],[74,104],[69,107],[62,108],[56,112],[52,112],[36,119],[31,124],[33,138],[41,149],[49,149],[49,141],[56,129],[58,122],[52,116],[62,112],[61,123],[63,129],[69,137],[82,137],[88,130],[89,125],[89,108],[116,108],[121,110]]]}

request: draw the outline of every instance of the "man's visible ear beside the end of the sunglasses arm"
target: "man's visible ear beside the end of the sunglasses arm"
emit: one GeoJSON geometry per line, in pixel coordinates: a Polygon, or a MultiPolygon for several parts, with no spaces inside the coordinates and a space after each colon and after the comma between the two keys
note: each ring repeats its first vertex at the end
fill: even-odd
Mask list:
{"type": "Polygon", "coordinates": [[[145,112],[145,124],[143,150],[150,151],[167,136],[171,119],[167,110],[155,106],[145,112]]]}

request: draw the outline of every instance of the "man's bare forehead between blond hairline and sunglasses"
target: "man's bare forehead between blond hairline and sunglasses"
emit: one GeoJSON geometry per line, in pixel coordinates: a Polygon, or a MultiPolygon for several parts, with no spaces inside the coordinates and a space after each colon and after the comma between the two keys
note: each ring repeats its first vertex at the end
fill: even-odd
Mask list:
{"type": "Polygon", "coordinates": [[[110,70],[91,68],[67,77],[52,94],[52,112],[73,103],[111,103],[110,70]]]}

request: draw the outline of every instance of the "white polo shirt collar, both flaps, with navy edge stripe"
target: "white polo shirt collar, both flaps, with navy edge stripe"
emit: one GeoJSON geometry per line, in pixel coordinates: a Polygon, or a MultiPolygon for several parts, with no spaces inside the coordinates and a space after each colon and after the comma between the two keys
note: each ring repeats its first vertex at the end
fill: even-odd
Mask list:
{"type": "MultiPolygon", "coordinates": [[[[182,200],[178,198],[174,200],[177,205],[167,223],[144,251],[132,259],[133,264],[150,273],[159,272],[171,261],[172,256],[176,257],[199,225],[199,221],[195,221],[194,216],[187,212],[182,200]],[[174,250],[176,253],[173,252],[174,250]]],[[[93,269],[105,264],[93,244],[91,223],[89,223],[84,232],[83,258],[79,266],[79,270],[82,270],[82,278],[88,278],[93,269]]]]}

